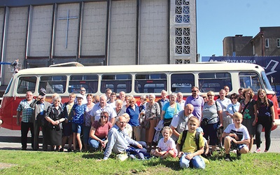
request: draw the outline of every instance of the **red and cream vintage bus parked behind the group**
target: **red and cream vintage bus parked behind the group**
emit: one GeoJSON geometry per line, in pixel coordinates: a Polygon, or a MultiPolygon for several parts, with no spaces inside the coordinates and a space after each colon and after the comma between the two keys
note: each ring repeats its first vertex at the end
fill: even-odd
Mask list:
{"type": "MultiPolygon", "coordinates": [[[[113,92],[124,91],[139,100],[142,94],[154,93],[160,97],[167,93],[182,92],[184,98],[191,94],[191,87],[200,88],[200,93],[209,90],[218,92],[228,85],[230,94],[238,93],[239,87],[251,87],[255,94],[262,88],[274,102],[275,116],[279,118],[279,105],[265,70],[257,64],[226,62],[204,62],[197,64],[158,64],[127,66],[83,66],[78,63],[58,64],[50,67],[22,69],[15,73],[8,84],[0,108],[2,127],[20,130],[16,125],[16,109],[25,92],[30,90],[37,96],[41,87],[47,92],[47,101],[53,93],[66,102],[69,93],[79,93],[85,87],[87,93],[104,94],[106,88],[113,92]]],[[[256,99],[256,95],[255,95],[256,99]]],[[[274,127],[275,129],[276,127],[274,127]]]]}

